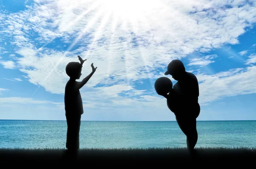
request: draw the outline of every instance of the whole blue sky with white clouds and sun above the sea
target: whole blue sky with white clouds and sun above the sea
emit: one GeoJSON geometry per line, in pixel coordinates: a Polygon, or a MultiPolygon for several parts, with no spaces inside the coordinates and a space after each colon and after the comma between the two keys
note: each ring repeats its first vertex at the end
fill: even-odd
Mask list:
{"type": "Polygon", "coordinates": [[[154,90],[173,59],[198,79],[198,121],[256,120],[255,25],[256,0],[0,0],[0,119],[66,120],[79,55],[78,81],[97,67],[81,120],[175,121],[154,90]]]}

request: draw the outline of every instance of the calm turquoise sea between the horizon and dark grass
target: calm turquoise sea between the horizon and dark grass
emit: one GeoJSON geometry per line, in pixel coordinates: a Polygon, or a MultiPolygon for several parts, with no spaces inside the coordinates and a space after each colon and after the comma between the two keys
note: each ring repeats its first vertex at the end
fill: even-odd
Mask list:
{"type": "MultiPolygon", "coordinates": [[[[197,121],[196,147],[256,147],[256,121],[197,121]]],[[[0,147],[65,148],[66,121],[0,120],[0,147]]],[[[186,147],[176,121],[81,121],[80,148],[186,147]]]]}

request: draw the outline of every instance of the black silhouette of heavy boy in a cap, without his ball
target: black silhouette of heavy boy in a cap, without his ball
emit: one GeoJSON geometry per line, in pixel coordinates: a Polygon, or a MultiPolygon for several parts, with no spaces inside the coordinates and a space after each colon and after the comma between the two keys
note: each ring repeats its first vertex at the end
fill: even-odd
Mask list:
{"type": "Polygon", "coordinates": [[[175,113],[177,123],[186,135],[186,144],[190,152],[194,149],[198,141],[196,129],[196,118],[200,113],[198,104],[199,87],[196,76],[186,72],[180,60],[172,60],[167,67],[165,75],[172,75],[177,80],[173,86],[173,92],[160,94],[167,99],[167,105],[175,113]]]}

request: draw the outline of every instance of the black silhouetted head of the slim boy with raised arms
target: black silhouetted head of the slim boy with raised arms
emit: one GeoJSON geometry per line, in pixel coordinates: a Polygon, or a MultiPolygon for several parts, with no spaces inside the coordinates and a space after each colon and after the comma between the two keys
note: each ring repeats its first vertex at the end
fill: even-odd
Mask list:
{"type": "Polygon", "coordinates": [[[80,79],[82,65],[79,62],[69,62],[66,66],[67,76],[73,79],[80,79]]]}

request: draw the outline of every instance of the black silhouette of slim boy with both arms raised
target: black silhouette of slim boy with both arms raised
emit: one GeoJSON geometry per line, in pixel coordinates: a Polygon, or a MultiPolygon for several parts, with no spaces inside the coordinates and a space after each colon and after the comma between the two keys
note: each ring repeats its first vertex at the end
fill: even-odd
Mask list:
{"type": "Polygon", "coordinates": [[[77,82],[76,79],[80,79],[81,69],[84,61],[78,56],[79,62],[69,62],[66,66],[66,73],[70,77],[65,87],[65,115],[67,119],[67,142],[66,148],[69,150],[79,149],[79,131],[81,115],[84,113],[83,103],[79,89],[83,87],[93,73],[96,71],[93,63],[91,64],[92,72],[85,77],[81,82],[77,82]]]}

